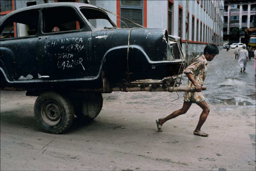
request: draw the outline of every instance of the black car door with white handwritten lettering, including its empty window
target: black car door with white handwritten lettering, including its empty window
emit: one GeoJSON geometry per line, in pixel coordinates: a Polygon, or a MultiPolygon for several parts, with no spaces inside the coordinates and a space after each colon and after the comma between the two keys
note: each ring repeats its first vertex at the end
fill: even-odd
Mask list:
{"type": "Polygon", "coordinates": [[[41,79],[91,77],[91,30],[73,7],[43,9],[37,58],[41,79]]]}

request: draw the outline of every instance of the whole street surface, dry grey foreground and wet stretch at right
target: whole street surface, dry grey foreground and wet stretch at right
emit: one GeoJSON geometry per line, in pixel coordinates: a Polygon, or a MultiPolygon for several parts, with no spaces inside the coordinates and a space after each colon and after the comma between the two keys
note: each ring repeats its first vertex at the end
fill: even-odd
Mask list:
{"type": "MultiPolygon", "coordinates": [[[[240,73],[234,49],[208,64],[206,97],[211,111],[193,135],[200,107],[156,129],[155,120],[182,107],[183,93],[104,94],[100,115],[78,118],[67,133],[42,132],[33,116],[36,97],[1,91],[0,170],[256,170],[254,58],[240,73]],[[231,100],[219,100],[232,98],[231,100]]],[[[182,78],[182,86],[186,84],[182,78]]]]}

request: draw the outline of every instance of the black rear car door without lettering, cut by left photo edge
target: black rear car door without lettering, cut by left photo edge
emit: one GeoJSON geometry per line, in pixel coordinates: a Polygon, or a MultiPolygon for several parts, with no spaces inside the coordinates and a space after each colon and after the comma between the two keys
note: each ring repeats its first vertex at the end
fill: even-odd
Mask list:
{"type": "Polygon", "coordinates": [[[1,68],[10,81],[37,79],[39,11],[22,11],[1,25],[1,68]]]}

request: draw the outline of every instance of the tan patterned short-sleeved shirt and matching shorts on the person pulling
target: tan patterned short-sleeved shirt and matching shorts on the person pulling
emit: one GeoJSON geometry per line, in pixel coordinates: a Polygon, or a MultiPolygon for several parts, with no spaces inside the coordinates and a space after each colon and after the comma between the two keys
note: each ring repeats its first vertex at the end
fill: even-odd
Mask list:
{"type": "MultiPolygon", "coordinates": [[[[197,56],[195,58],[195,62],[189,65],[184,73],[191,73],[195,81],[200,85],[204,85],[204,79],[206,78],[207,67],[208,64],[204,55],[197,56]]],[[[188,80],[186,87],[195,87],[194,84],[188,80]]],[[[191,103],[199,103],[204,101],[205,98],[200,92],[184,92],[184,101],[191,103]]]]}

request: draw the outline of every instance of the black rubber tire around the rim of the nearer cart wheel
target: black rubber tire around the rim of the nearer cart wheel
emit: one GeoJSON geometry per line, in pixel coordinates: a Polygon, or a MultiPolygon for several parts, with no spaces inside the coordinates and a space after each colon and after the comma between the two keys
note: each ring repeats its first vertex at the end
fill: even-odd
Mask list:
{"type": "Polygon", "coordinates": [[[56,92],[45,92],[39,95],[35,101],[34,115],[36,123],[43,131],[51,134],[59,134],[66,131],[72,124],[74,118],[74,105],[67,96],[56,92]],[[61,109],[60,120],[54,126],[47,124],[41,114],[42,106],[49,100],[58,104],[61,109]]]}

